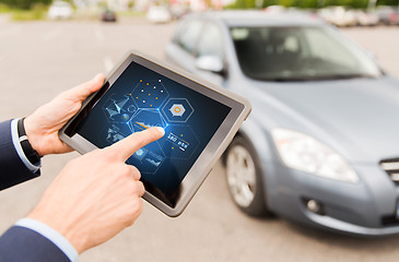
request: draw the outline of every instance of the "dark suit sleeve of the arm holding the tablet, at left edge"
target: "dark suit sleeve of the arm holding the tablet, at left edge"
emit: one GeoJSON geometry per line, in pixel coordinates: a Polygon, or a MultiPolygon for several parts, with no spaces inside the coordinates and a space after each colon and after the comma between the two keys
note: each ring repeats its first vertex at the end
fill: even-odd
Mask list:
{"type": "Polygon", "coordinates": [[[0,122],[0,190],[39,175],[39,171],[32,172],[17,155],[12,143],[11,121],[0,122]]]}

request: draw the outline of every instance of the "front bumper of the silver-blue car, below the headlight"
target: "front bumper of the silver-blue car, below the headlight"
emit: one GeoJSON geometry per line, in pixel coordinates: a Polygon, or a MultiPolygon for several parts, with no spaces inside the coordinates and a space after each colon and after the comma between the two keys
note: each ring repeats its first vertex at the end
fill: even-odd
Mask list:
{"type": "Polygon", "coordinates": [[[356,184],[289,169],[281,164],[270,166],[273,166],[272,174],[278,175],[266,179],[267,198],[277,214],[354,235],[399,234],[399,219],[396,218],[399,190],[379,166],[354,166],[361,178],[356,184]],[[308,200],[317,201],[322,212],[310,211],[308,200]]]}

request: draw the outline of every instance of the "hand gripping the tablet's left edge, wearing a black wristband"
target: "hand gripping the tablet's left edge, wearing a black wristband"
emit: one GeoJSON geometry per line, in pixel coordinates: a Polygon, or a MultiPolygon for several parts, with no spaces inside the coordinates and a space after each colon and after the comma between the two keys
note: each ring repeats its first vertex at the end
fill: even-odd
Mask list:
{"type": "Polygon", "coordinates": [[[58,138],[58,131],[79,111],[82,102],[98,91],[103,83],[104,75],[97,74],[93,80],[61,93],[25,119],[27,139],[40,156],[72,151],[58,138]]]}

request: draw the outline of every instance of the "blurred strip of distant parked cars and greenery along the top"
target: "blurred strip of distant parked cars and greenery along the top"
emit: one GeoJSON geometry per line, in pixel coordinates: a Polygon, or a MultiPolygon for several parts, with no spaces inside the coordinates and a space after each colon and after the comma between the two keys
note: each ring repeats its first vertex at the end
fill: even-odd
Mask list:
{"type": "Polygon", "coordinates": [[[338,26],[398,25],[397,0],[1,0],[0,13],[14,21],[145,15],[169,22],[189,12],[257,9],[305,12],[338,26]]]}

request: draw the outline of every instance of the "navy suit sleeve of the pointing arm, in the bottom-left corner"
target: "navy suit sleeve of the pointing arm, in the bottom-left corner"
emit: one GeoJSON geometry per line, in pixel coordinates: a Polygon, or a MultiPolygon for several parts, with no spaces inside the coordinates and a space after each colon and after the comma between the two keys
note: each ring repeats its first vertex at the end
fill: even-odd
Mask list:
{"type": "Polygon", "coordinates": [[[50,240],[25,227],[13,226],[0,237],[0,261],[70,262],[50,240]]]}

